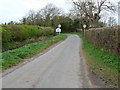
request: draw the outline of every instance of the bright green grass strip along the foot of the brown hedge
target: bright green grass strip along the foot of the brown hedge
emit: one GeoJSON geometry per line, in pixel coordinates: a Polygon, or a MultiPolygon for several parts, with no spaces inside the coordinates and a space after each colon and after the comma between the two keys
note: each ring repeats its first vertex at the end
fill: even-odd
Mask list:
{"type": "Polygon", "coordinates": [[[108,67],[112,69],[119,70],[118,61],[120,60],[118,56],[114,54],[109,54],[105,51],[105,49],[100,48],[92,43],[89,43],[87,38],[82,34],[78,34],[83,38],[84,49],[89,53],[89,55],[96,61],[102,62],[106,64],[108,67]]]}

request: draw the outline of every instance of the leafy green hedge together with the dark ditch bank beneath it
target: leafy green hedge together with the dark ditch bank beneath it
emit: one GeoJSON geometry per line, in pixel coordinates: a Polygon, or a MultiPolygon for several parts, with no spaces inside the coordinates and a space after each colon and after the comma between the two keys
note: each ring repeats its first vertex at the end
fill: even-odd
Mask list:
{"type": "Polygon", "coordinates": [[[2,52],[53,36],[54,29],[33,25],[1,25],[2,52]]]}

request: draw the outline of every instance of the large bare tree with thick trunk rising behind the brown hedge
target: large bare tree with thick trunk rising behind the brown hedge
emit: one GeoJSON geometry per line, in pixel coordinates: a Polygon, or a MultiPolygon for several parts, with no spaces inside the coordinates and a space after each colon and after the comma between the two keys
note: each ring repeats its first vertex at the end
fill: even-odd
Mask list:
{"type": "Polygon", "coordinates": [[[72,0],[73,4],[77,6],[84,17],[88,17],[93,27],[98,26],[100,20],[100,13],[103,10],[115,11],[115,6],[108,0],[72,0]]]}

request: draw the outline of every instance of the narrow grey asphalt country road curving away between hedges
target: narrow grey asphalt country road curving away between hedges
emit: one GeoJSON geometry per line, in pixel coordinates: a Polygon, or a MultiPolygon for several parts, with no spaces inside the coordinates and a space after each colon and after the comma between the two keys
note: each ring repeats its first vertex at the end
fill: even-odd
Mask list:
{"type": "Polygon", "coordinates": [[[81,40],[68,38],[47,53],[4,76],[3,88],[90,88],[81,40]]]}

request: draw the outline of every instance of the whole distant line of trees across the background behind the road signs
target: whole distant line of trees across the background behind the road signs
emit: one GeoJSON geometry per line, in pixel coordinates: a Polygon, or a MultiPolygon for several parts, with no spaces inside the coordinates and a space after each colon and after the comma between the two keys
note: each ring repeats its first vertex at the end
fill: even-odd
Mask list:
{"type": "MultiPolygon", "coordinates": [[[[56,29],[58,24],[62,25],[62,32],[73,32],[79,28],[83,28],[83,24],[87,25],[87,28],[91,27],[91,21],[85,16],[74,16],[75,13],[70,12],[65,14],[63,10],[48,4],[44,8],[34,11],[30,10],[26,16],[24,16],[19,24],[37,25],[44,27],[53,27],[56,29]]],[[[18,24],[11,21],[8,24],[18,24]]],[[[103,27],[105,24],[99,22],[98,27],[103,27]]]]}

